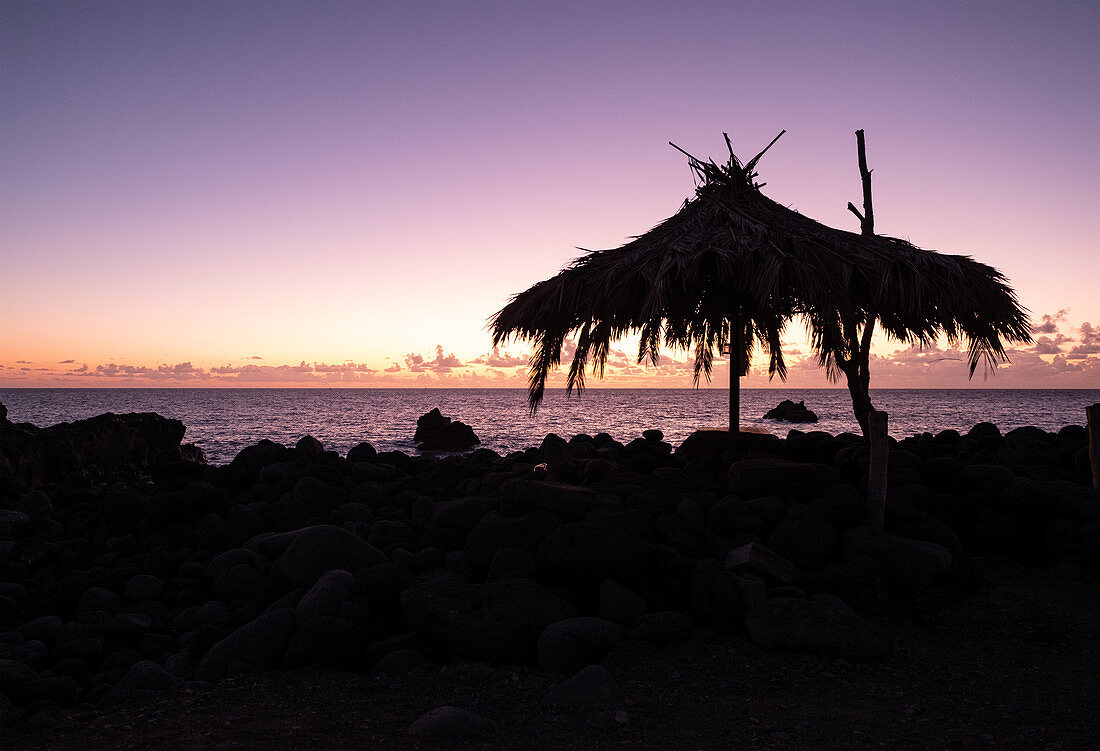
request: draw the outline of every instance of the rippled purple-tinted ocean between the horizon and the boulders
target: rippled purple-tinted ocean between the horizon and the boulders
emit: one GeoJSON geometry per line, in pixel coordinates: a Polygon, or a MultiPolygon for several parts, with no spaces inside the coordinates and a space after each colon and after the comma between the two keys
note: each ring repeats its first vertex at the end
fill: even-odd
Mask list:
{"type": "MultiPolygon", "coordinates": [[[[946,429],[966,432],[982,421],[1002,431],[1085,424],[1085,408],[1100,402],[1100,389],[878,389],[871,398],[890,413],[890,434],[900,439],[946,429]]],[[[728,394],[718,388],[548,391],[535,416],[525,389],[8,388],[0,389],[0,402],[11,421],[40,427],[103,412],[157,412],[183,421],[184,441],[201,446],[213,464],[229,462],[261,439],[294,445],[306,434],[340,453],[361,441],[380,451],[415,453],[416,420],[432,407],[469,424],[482,446],[502,454],[538,445],[551,432],[564,438],[606,432],[627,442],[657,428],[679,444],[700,428],[725,426],[728,413],[728,394]]],[[[859,432],[846,389],[744,389],[741,424],[777,435],[791,428],[859,432]],[[765,420],[765,412],[783,399],[804,400],[820,421],[765,420]]]]}

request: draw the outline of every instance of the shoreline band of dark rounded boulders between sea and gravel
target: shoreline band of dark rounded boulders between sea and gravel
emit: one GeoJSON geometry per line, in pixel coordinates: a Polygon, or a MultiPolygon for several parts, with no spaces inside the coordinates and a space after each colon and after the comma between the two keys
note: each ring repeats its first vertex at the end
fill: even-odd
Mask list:
{"type": "MultiPolygon", "coordinates": [[[[99,453],[0,424],[6,728],[310,667],[536,671],[558,676],[549,705],[603,706],[617,670],[676,644],[889,664],[883,623],[934,623],[991,586],[988,561],[1096,592],[1080,427],[891,441],[881,529],[850,434],[548,435],[507,456],[305,437],[208,466],[164,418],[103,417],[99,453]]],[[[491,737],[483,720],[409,730],[491,737]]]]}

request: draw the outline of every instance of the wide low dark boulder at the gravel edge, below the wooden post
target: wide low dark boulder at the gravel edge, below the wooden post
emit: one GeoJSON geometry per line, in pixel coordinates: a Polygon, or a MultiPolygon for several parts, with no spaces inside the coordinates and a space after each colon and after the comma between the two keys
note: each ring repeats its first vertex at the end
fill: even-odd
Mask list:
{"type": "Polygon", "coordinates": [[[780,597],[755,608],[745,628],[760,648],[870,662],[890,652],[887,640],[859,616],[821,601],[780,597]]]}

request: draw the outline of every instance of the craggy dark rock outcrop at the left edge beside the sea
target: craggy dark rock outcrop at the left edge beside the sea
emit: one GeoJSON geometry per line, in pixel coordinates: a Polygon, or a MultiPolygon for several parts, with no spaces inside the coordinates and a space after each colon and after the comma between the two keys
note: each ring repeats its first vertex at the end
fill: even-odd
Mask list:
{"type": "Polygon", "coordinates": [[[66,479],[135,479],[156,464],[205,463],[194,445],[180,446],[184,423],[154,412],[100,415],[50,428],[12,423],[0,406],[0,474],[31,487],[66,479]]]}

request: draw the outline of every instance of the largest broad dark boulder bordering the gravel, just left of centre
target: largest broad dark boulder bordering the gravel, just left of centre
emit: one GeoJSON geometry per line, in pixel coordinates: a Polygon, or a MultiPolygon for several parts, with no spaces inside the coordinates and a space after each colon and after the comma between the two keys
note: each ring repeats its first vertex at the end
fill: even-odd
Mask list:
{"type": "Polygon", "coordinates": [[[542,630],[574,615],[569,603],[530,579],[426,582],[405,589],[400,600],[417,628],[491,662],[529,662],[542,630]]]}

